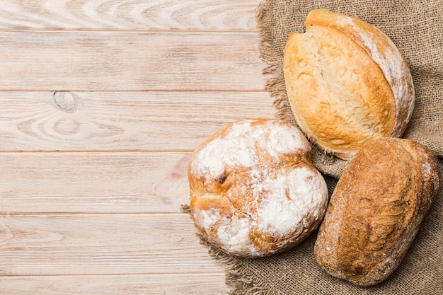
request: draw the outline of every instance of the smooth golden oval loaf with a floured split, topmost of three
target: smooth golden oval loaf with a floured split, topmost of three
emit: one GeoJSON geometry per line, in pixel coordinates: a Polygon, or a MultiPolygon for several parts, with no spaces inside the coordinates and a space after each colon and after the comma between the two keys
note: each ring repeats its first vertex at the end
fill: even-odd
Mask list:
{"type": "Polygon", "coordinates": [[[413,79],[396,45],[357,18],[311,11],[292,33],[283,71],[300,129],[339,158],[364,144],[401,137],[414,106],[413,79]]]}

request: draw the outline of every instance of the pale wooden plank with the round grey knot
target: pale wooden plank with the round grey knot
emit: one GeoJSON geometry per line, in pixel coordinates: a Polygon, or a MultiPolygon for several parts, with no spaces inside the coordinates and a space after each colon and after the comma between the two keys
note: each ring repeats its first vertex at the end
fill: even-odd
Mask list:
{"type": "Polygon", "coordinates": [[[265,92],[0,92],[0,151],[192,151],[265,92]]]}

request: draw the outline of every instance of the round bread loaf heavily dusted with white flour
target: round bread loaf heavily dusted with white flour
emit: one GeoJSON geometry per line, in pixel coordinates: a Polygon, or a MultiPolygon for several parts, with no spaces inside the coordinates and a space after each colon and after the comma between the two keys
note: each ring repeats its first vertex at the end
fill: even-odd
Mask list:
{"type": "Polygon", "coordinates": [[[192,154],[190,211],[202,236],[245,258],[300,243],[323,218],[328,190],[306,137],[281,120],[241,120],[192,154]]]}

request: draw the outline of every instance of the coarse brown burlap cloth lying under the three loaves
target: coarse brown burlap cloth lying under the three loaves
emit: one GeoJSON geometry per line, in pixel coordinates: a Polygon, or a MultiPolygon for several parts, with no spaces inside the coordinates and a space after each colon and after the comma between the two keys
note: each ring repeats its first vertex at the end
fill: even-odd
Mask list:
{"type": "MultiPolygon", "coordinates": [[[[428,146],[443,162],[443,1],[442,0],[267,0],[258,7],[260,52],[269,65],[267,91],[278,117],[292,122],[282,73],[283,48],[289,33],[304,32],[314,8],[356,16],[379,28],[397,45],[413,75],[416,103],[403,137],[428,146]]],[[[333,191],[347,162],[313,146],[313,161],[333,191]]],[[[443,184],[440,184],[443,187],[443,184]]],[[[260,259],[229,257],[209,246],[226,266],[231,294],[443,294],[443,190],[439,190],[418,236],[398,269],[386,281],[362,288],[323,272],[313,258],[316,232],[280,255],[260,259]]]]}

